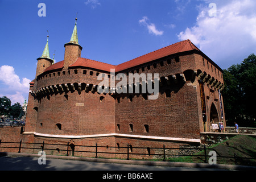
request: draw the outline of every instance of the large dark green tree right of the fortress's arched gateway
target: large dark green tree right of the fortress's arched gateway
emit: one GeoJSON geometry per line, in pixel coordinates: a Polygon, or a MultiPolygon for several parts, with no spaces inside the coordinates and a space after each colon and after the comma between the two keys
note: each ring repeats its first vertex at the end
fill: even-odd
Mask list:
{"type": "Polygon", "coordinates": [[[228,125],[234,121],[242,126],[255,124],[256,56],[251,54],[241,64],[232,65],[223,73],[222,92],[228,125]]]}

